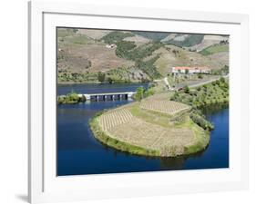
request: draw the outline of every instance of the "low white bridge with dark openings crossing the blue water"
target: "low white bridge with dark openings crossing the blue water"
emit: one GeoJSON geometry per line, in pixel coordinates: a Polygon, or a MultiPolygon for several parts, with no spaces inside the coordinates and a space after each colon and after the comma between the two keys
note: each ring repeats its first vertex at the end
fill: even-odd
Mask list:
{"type": "Polygon", "coordinates": [[[80,98],[85,98],[87,101],[114,101],[121,99],[129,99],[135,92],[99,92],[78,94],[80,98]]]}

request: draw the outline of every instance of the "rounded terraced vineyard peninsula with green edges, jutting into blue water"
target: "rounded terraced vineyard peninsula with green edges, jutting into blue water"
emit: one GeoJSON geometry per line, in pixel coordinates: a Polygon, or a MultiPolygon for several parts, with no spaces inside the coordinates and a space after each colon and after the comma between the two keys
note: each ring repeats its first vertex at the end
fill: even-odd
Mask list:
{"type": "Polygon", "coordinates": [[[209,135],[191,121],[186,110],[189,106],[181,102],[152,97],[101,114],[93,131],[98,140],[121,151],[161,157],[182,155],[199,143],[200,148],[192,151],[201,150],[209,142],[209,135]],[[172,116],[179,112],[184,116],[181,123],[171,123],[172,116]]]}

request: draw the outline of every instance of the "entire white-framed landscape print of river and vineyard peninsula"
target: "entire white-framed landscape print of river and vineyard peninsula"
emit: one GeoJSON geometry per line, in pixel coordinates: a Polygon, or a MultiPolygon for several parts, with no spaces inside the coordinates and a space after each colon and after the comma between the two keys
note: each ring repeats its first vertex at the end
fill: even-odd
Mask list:
{"type": "Polygon", "coordinates": [[[31,203],[248,188],[248,16],[29,3],[31,203]]]}

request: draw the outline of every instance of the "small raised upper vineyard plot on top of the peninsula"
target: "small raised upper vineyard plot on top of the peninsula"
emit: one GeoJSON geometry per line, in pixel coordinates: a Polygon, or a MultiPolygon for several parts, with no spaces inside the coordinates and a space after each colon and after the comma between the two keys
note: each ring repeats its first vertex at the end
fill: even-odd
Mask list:
{"type": "Polygon", "coordinates": [[[155,112],[163,112],[163,113],[168,113],[168,114],[175,114],[178,112],[182,112],[185,110],[189,110],[189,106],[181,103],[181,102],[171,102],[171,101],[144,101],[141,102],[139,107],[141,109],[147,109],[150,111],[155,111],[155,112]]]}

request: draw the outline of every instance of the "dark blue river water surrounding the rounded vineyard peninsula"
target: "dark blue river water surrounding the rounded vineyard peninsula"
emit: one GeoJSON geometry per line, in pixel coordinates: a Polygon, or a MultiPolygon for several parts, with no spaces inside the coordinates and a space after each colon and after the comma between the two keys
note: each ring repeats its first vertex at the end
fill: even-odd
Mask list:
{"type": "MultiPolygon", "coordinates": [[[[98,86],[98,85],[97,85],[98,86]]],[[[137,84],[137,87],[139,84],[137,84]]],[[[95,86],[79,85],[81,91],[95,86]],[[89,86],[89,87],[88,87],[89,86]]],[[[135,91],[136,85],[108,85],[114,92],[135,91]],[[113,87],[113,88],[112,88],[113,87]]],[[[67,92],[61,86],[58,92],[67,92]],[[63,89],[63,90],[62,90],[63,89]]],[[[70,90],[69,90],[70,92],[70,90]]],[[[98,142],[88,127],[88,120],[100,110],[130,101],[87,102],[60,105],[57,109],[57,175],[81,175],[151,170],[196,170],[229,167],[229,109],[209,110],[207,118],[215,125],[210,132],[210,145],[205,151],[178,158],[151,158],[116,151],[98,142]]]]}

